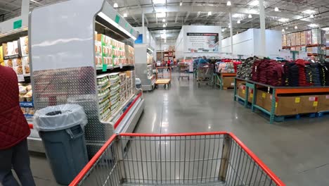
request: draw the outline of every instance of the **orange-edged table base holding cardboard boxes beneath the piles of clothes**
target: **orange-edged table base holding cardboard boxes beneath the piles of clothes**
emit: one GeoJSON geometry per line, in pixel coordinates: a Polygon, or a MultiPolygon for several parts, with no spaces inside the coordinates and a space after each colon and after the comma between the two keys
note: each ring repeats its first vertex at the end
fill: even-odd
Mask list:
{"type": "Polygon", "coordinates": [[[270,123],[290,116],[322,116],[329,111],[328,94],[329,87],[275,87],[240,77],[236,77],[234,86],[234,101],[243,101],[245,107],[250,103],[252,111],[258,109],[268,114],[270,123]]]}

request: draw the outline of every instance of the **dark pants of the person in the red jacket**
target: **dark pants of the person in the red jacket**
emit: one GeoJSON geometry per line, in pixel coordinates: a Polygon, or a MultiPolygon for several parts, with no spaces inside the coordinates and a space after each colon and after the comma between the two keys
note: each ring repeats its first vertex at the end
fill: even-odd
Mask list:
{"type": "Polygon", "coordinates": [[[0,183],[4,186],[19,186],[11,172],[12,166],[22,186],[35,185],[30,169],[30,157],[26,139],[14,147],[0,150],[0,183]]]}

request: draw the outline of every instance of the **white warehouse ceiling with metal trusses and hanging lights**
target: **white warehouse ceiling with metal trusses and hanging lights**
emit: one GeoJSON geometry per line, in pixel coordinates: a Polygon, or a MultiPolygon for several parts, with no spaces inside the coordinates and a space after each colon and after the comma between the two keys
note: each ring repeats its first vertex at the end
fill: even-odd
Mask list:
{"type": "MultiPolygon", "coordinates": [[[[31,0],[30,8],[57,1],[60,0],[31,0]]],[[[117,3],[117,11],[122,16],[127,13],[126,19],[133,26],[142,25],[144,13],[145,25],[150,30],[179,30],[182,25],[220,25],[224,28],[223,36],[228,37],[229,12],[233,16],[233,34],[249,28],[259,28],[259,6],[254,0],[232,0],[232,6],[226,5],[227,0],[108,1],[112,5],[117,3]],[[249,14],[252,18],[248,18],[249,14]],[[163,27],[163,19],[166,27],[163,27]]],[[[22,0],[0,0],[0,21],[19,16],[21,3],[22,0]]],[[[328,0],[266,0],[264,4],[267,29],[295,32],[311,27],[329,27],[328,0]],[[276,7],[278,11],[275,11],[276,7]],[[310,18],[311,14],[314,18],[310,18]]],[[[159,36],[156,39],[160,39],[160,31],[153,31],[153,34],[159,36]]],[[[176,37],[175,35],[178,32],[174,32],[172,37],[176,37]]]]}

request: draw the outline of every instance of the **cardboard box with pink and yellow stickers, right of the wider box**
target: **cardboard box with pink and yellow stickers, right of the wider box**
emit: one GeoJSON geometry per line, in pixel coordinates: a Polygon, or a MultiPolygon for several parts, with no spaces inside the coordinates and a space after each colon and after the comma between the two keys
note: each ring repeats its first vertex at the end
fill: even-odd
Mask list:
{"type": "Polygon", "coordinates": [[[316,113],[318,110],[318,96],[301,96],[299,113],[316,113]]]}

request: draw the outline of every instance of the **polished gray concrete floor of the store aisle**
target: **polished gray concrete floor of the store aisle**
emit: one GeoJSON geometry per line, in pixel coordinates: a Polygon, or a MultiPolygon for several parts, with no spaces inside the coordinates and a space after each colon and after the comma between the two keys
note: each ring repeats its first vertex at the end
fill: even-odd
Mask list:
{"type": "MultiPolygon", "coordinates": [[[[146,108],[135,132],[233,132],[289,186],[329,185],[329,118],[269,124],[233,101],[233,90],[198,88],[191,80],[143,94],[146,108]]],[[[42,154],[31,154],[37,185],[57,185],[42,154]]]]}

